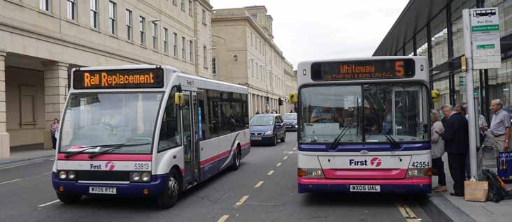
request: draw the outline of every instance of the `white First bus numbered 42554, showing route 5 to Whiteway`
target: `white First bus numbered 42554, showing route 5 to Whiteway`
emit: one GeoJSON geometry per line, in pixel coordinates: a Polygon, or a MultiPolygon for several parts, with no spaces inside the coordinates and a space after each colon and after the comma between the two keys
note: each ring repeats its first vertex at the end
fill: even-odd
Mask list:
{"type": "Polygon", "coordinates": [[[298,188],[429,193],[425,57],[305,61],[298,66],[298,188]]]}

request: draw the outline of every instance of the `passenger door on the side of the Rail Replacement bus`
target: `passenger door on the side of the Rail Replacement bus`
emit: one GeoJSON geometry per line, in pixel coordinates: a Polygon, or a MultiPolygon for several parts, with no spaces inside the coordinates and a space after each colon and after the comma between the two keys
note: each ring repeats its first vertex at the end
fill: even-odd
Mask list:
{"type": "Polygon", "coordinates": [[[196,93],[183,91],[183,144],[185,152],[185,187],[199,179],[199,140],[197,133],[196,93]],[[192,97],[192,99],[191,99],[192,97]]]}

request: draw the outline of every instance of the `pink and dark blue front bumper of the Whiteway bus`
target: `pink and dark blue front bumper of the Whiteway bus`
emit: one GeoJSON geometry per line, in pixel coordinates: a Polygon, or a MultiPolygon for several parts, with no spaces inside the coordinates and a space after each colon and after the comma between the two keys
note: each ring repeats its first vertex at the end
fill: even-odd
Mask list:
{"type": "Polygon", "coordinates": [[[380,193],[431,193],[432,191],[431,177],[406,179],[324,179],[299,177],[298,182],[299,193],[360,193],[350,191],[350,185],[378,185],[380,186],[380,193]]]}

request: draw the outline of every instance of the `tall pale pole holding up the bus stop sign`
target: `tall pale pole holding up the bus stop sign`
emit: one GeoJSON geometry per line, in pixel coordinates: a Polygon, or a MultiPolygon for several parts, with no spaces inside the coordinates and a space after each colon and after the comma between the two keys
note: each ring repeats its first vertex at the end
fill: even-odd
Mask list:
{"type": "Polygon", "coordinates": [[[464,54],[467,58],[467,73],[466,73],[466,94],[467,94],[467,113],[469,117],[469,166],[471,171],[471,178],[476,179],[477,166],[476,166],[476,110],[475,100],[473,95],[473,56],[471,45],[471,21],[469,20],[469,10],[462,10],[462,20],[464,22],[464,54]]]}

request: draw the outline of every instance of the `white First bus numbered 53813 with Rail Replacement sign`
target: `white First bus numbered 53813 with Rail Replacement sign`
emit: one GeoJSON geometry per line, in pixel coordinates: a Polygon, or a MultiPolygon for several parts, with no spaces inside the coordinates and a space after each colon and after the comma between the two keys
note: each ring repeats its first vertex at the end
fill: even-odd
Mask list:
{"type": "Polygon", "coordinates": [[[71,82],[52,173],[62,202],[119,195],[172,207],[249,154],[246,87],[149,65],[76,68],[71,82]]]}

